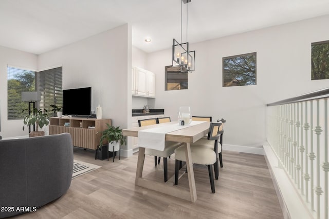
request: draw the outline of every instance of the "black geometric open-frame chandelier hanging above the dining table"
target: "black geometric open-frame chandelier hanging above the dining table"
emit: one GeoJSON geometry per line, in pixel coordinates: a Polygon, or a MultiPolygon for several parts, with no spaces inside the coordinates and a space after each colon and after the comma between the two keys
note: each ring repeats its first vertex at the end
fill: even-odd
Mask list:
{"type": "Polygon", "coordinates": [[[195,51],[189,50],[187,42],[187,25],[188,25],[188,3],[191,0],[181,0],[180,6],[180,43],[176,39],[173,40],[173,66],[180,66],[180,71],[195,70],[195,51]],[[182,3],[186,4],[186,43],[182,43],[182,3]]]}

